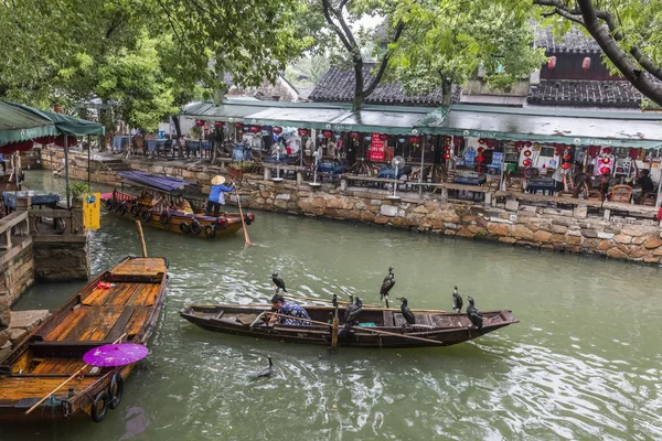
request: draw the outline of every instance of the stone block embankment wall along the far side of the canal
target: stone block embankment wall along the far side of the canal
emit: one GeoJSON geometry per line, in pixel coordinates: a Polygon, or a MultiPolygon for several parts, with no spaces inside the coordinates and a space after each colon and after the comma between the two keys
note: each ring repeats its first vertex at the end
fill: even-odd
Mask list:
{"type": "MultiPolygon", "coordinates": [[[[215,174],[227,174],[227,169],[222,166],[182,162],[134,160],[127,165],[196,181],[203,193],[209,193],[210,181],[215,174]]],[[[93,180],[96,176],[95,173],[93,180]]],[[[662,229],[652,216],[618,215],[618,211],[598,209],[580,202],[570,209],[562,209],[546,202],[509,203],[505,197],[502,197],[503,203],[498,203],[498,195],[487,203],[472,203],[426,193],[423,197],[416,193],[402,193],[401,201],[392,201],[383,190],[340,190],[327,184],[313,190],[306,183],[274,183],[259,176],[245,176],[241,191],[242,197],[246,198],[245,205],[253,209],[387,225],[644,263],[662,262],[662,229]]]]}

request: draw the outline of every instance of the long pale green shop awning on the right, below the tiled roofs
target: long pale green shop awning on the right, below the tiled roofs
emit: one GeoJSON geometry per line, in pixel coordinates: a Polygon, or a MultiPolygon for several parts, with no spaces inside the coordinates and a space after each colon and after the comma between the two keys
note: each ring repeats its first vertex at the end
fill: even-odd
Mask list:
{"type": "Polygon", "coordinates": [[[575,146],[662,148],[662,115],[453,105],[417,123],[423,133],[575,146]]]}

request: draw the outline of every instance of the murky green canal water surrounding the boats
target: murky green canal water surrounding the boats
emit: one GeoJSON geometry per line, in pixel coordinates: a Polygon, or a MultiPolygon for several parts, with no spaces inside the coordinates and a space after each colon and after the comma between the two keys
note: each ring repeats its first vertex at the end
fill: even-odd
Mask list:
{"type": "MultiPolygon", "coordinates": [[[[62,187],[47,172],[33,187],[62,187]]],[[[170,260],[151,354],[106,420],[0,426],[1,440],[649,440],[662,439],[660,270],[597,258],[256,213],[253,246],[145,228],[170,260]],[[521,323],[451,347],[325,348],[202,331],[190,302],[267,302],[341,284],[378,300],[388,266],[412,308],[450,309],[453,284],[521,323]],[[248,377],[267,363],[271,378],[248,377]]],[[[102,215],[92,271],[138,255],[135,225],[102,215]]],[[[54,309],[82,283],[39,284],[17,309],[54,309]]]]}

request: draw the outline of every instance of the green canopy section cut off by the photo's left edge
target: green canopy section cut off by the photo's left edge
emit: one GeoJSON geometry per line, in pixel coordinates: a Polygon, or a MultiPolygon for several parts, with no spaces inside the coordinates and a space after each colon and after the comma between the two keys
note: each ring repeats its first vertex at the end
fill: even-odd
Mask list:
{"type": "Polygon", "coordinates": [[[0,147],[54,135],[55,126],[49,119],[0,101],[0,147]]]}

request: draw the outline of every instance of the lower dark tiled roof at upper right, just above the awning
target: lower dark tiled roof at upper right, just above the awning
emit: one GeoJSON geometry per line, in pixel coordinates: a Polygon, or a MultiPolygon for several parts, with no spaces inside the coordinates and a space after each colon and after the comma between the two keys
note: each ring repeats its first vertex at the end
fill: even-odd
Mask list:
{"type": "Polygon", "coordinates": [[[541,79],[528,103],[546,106],[639,108],[641,94],[627,80],[541,79]]]}

